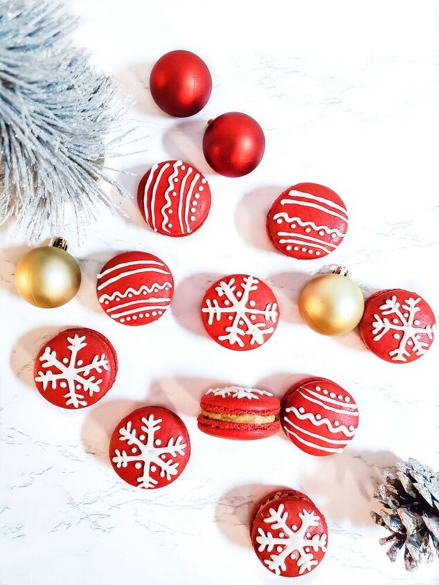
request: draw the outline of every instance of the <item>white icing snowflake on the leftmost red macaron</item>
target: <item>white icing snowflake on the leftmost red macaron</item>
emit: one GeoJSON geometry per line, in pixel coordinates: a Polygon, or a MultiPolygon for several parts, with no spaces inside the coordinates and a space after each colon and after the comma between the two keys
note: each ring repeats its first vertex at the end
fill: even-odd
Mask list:
{"type": "Polygon", "coordinates": [[[93,370],[96,370],[98,374],[102,370],[108,370],[108,360],[105,354],[100,357],[95,355],[90,363],[82,365],[82,360],[76,361],[78,352],[85,348],[87,343],[85,342],[85,335],[80,337],[75,334],[74,337],[67,337],[69,345],[67,349],[70,351],[70,358],[58,359],[55,350],[51,350],[47,346],[44,353],[39,358],[42,361],[42,368],[57,368],[59,372],[52,372],[47,370],[46,372],[38,372],[35,381],[41,382],[44,390],[47,390],[48,384],[51,384],[53,390],[57,388],[58,383],[60,388],[68,388],[67,393],[64,394],[66,398],[66,406],[73,405],[74,408],[80,406],[87,406],[87,400],[84,399],[84,392],[88,392],[90,397],[94,393],[99,392],[100,384],[102,379],[97,380],[95,376],[88,376],[93,370]]]}

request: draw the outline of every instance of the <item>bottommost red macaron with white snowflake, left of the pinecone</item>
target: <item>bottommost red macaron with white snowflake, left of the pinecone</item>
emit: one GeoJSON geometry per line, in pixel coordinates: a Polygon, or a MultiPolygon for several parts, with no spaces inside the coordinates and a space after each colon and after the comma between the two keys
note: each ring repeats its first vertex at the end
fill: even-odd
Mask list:
{"type": "Polygon", "coordinates": [[[325,556],[328,525],[308,496],[279,489],[255,505],[250,537],[265,568],[281,577],[300,577],[314,570],[325,556]]]}

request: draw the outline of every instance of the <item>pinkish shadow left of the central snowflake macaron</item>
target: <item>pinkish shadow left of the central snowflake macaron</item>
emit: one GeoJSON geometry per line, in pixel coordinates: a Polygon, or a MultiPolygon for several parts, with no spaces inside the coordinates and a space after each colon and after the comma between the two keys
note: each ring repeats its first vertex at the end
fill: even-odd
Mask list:
{"type": "Polygon", "coordinates": [[[181,327],[196,335],[208,337],[201,321],[201,300],[210,285],[222,276],[215,273],[192,274],[179,283],[174,290],[171,311],[181,327]]]}

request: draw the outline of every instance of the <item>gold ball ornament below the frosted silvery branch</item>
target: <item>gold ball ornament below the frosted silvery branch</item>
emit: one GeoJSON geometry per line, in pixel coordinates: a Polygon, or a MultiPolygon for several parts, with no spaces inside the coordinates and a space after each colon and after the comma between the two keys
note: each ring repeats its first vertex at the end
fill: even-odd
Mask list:
{"type": "Polygon", "coordinates": [[[49,246],[30,250],[15,269],[15,286],[30,305],[42,309],[61,307],[78,292],[81,271],[67,252],[67,242],[54,237],[49,246]]]}

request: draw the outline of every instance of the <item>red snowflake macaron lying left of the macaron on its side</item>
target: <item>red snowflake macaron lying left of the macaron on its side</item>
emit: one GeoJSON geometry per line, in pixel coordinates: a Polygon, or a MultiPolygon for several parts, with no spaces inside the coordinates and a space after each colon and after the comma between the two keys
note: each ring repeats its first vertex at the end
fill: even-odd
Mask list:
{"type": "Polygon", "coordinates": [[[116,474],[129,485],[144,489],[175,481],[189,457],[186,425],[161,406],[143,406],[124,417],[109,444],[109,458],[116,474]]]}

